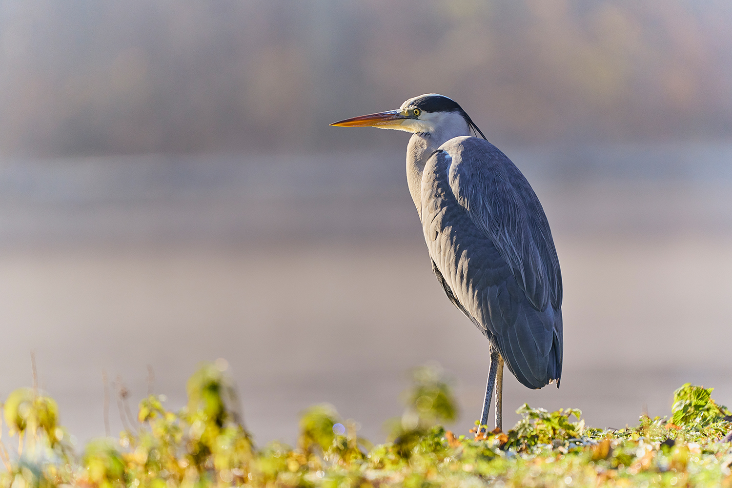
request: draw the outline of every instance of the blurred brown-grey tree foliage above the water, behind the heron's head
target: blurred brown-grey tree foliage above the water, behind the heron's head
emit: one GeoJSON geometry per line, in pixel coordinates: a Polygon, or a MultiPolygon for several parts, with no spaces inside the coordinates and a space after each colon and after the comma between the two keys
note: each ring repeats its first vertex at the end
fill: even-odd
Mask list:
{"type": "Polygon", "coordinates": [[[492,140],[728,138],[732,7],[631,0],[0,4],[0,154],[322,151],[437,91],[492,140]]]}

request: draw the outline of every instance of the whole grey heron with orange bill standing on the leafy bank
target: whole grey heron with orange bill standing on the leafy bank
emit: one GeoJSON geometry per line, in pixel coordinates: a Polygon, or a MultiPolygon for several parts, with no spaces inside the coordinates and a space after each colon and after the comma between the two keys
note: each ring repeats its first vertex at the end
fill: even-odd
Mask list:
{"type": "Polygon", "coordinates": [[[466,111],[443,95],[419,95],[397,110],[331,125],[412,132],[407,182],[432,269],[447,298],[490,342],[480,425],[488,424],[495,386],[496,427],[502,428],[504,361],[529,388],[555,380],[559,387],[561,378],[561,271],[537,195],[466,111]]]}

